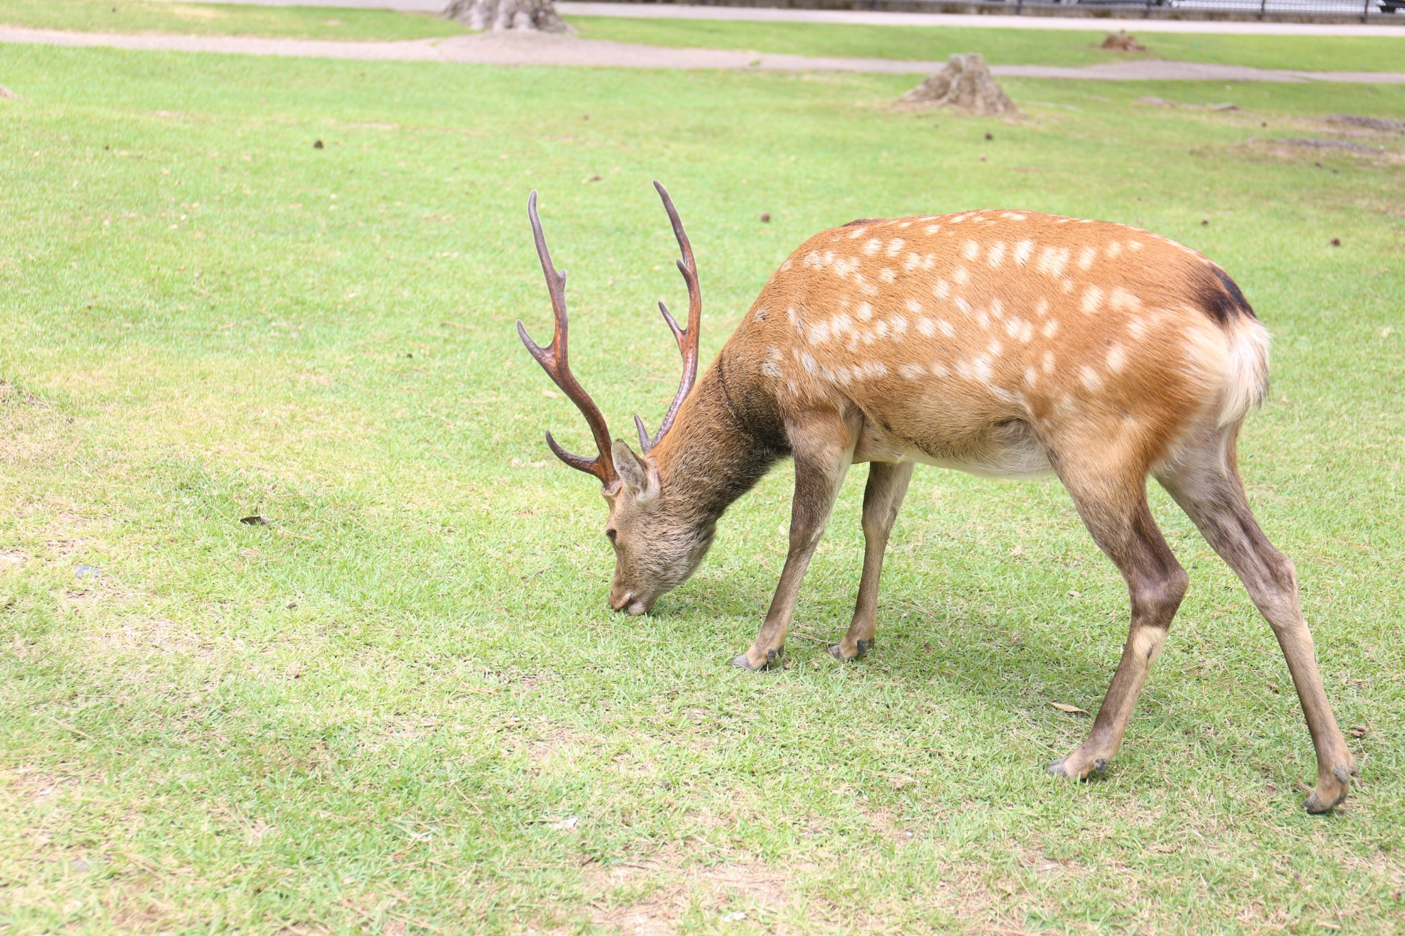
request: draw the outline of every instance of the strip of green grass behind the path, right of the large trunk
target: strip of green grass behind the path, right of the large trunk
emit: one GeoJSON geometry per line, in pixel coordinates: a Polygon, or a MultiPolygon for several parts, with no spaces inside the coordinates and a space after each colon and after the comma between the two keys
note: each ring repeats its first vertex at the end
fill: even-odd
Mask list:
{"type": "Polygon", "coordinates": [[[787,55],[944,60],[953,52],[981,52],[998,65],[1097,65],[1158,58],[1220,62],[1260,69],[1399,72],[1405,29],[1394,36],[1246,36],[1148,32],[1146,53],[1097,48],[1107,29],[986,29],[976,27],[832,25],[823,22],[728,22],[570,17],[580,35],[705,49],[787,55]]]}

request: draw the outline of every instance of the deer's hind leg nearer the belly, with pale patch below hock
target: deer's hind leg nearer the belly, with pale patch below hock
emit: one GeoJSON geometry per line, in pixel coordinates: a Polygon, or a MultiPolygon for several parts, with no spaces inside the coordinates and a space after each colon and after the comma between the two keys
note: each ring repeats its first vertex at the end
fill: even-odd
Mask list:
{"type": "Polygon", "coordinates": [[[1166,643],[1189,577],[1152,519],[1142,464],[1109,466],[1052,459],[1097,546],[1113,560],[1131,595],[1131,627],[1093,728],[1076,749],[1050,765],[1050,773],[1083,779],[1102,773],[1127,733],[1151,664],[1166,643]]]}

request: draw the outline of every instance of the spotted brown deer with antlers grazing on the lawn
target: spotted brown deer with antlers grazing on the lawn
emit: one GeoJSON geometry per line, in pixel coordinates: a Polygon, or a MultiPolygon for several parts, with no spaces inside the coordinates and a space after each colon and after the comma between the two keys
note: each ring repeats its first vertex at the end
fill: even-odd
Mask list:
{"type": "Polygon", "coordinates": [[[1342,803],[1353,772],[1293,561],[1245,498],[1235,442],[1264,393],[1269,335],[1210,260],[1165,237],[1034,212],[863,219],[815,234],[771,275],[697,383],[701,293],[667,192],[688,290],[687,327],[659,310],[683,379],[639,452],[614,439],[566,361],[565,272],[552,265],[537,192],[532,236],[555,312],[527,349],[580,408],[597,455],[547,445],[600,479],[615,551],[610,605],[643,615],[712,543],[718,518],[781,457],[795,460],[790,553],[756,641],[732,662],[777,661],[811,554],[849,466],[868,462],[864,570],[842,660],[874,646],[878,575],[916,462],[989,477],[1054,473],[1131,592],[1131,630],[1087,738],[1050,773],[1103,773],[1186,594],[1146,507],[1152,474],[1234,568],[1287,657],[1318,758],[1308,813],[1342,803]],[[694,386],[697,383],[697,386],[694,386]]]}

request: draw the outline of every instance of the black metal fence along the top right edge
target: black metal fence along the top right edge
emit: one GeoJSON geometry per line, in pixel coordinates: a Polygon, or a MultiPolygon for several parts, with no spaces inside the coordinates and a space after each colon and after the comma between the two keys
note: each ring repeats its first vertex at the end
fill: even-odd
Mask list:
{"type": "MultiPolygon", "coordinates": [[[[1264,20],[1277,22],[1380,22],[1405,27],[1405,0],[634,0],[731,7],[885,10],[902,13],[1000,13],[1017,15],[1154,20],[1264,20]]],[[[1402,29],[1405,35],[1405,29],[1402,29]]],[[[1405,56],[1402,56],[1405,69],[1405,56]]]]}

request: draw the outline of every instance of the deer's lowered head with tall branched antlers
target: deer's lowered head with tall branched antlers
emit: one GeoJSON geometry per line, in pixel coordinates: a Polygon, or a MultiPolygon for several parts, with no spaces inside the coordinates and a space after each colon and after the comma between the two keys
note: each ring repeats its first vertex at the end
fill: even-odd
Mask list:
{"type": "Polygon", "coordinates": [[[655,182],[653,187],[659,191],[659,198],[663,199],[663,208],[673,225],[679,250],[683,253],[677,265],[688,289],[688,324],[687,328],[680,327],[667,307],[662,302],[659,303],[659,312],[663,313],[663,320],[673,331],[679,352],[683,355],[683,377],[679,382],[673,404],[653,436],[643,428],[643,420],[638,415],[634,417],[635,428],[639,431],[639,453],[635,453],[622,439],[611,441],[610,428],[606,425],[600,408],[572,375],[566,362],[566,272],[556,271],[551,261],[551,251],[547,250],[541,219],[537,216],[537,192],[532,192],[527,199],[527,215],[531,219],[537,255],[541,258],[541,269],[547,276],[547,290],[551,295],[551,307],[555,314],[551,344],[542,348],[527,337],[521,320],[517,321],[517,335],[527,345],[527,351],[542,366],[547,376],[576,404],[582,415],[586,417],[596,439],[597,453],[594,457],[587,457],[566,452],[551,436],[551,432],[547,434],[547,445],[556,453],[556,457],[600,480],[600,493],[610,505],[606,536],[615,553],[615,571],[610,582],[610,606],[629,615],[648,613],[659,595],[681,585],[702,561],[708,546],[712,544],[714,530],[711,522],[700,522],[697,512],[680,502],[681,493],[673,491],[673,497],[670,497],[653,455],[655,446],[673,425],[679,407],[683,406],[683,400],[697,379],[698,320],[702,316],[702,297],[698,290],[693,247],[688,244],[683,222],[679,220],[679,212],[673,208],[669,194],[659,182],[655,182]]]}

